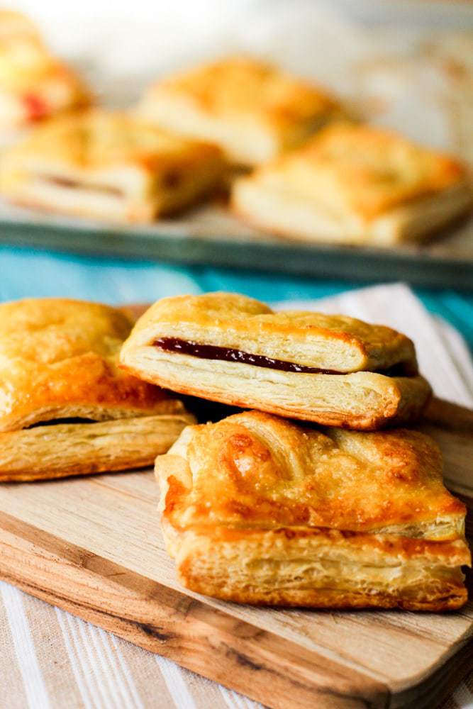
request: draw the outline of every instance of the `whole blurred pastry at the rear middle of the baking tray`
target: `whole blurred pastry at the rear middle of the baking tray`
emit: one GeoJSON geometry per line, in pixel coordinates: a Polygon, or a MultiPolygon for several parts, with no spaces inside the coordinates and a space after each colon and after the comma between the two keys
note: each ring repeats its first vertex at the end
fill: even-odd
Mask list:
{"type": "Polygon", "coordinates": [[[138,115],[219,145],[230,162],[254,165],[300,145],[335,116],[325,89],[249,57],[231,57],[159,81],[138,115]]]}

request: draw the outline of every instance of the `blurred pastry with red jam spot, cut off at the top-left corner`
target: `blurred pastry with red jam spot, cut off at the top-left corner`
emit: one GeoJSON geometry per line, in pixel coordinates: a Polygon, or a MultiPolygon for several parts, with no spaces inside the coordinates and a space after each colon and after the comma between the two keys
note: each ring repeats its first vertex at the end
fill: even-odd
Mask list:
{"type": "Polygon", "coordinates": [[[0,138],[61,111],[90,103],[77,74],[50,55],[35,25],[0,11],[0,138]]]}

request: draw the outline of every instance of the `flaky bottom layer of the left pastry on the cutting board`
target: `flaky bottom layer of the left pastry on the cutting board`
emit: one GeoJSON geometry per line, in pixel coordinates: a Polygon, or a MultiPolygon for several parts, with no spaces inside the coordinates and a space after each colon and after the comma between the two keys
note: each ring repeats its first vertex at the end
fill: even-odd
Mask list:
{"type": "Polygon", "coordinates": [[[190,414],[140,416],[101,423],[50,423],[0,433],[0,481],[29,481],[152,465],[190,414]]]}

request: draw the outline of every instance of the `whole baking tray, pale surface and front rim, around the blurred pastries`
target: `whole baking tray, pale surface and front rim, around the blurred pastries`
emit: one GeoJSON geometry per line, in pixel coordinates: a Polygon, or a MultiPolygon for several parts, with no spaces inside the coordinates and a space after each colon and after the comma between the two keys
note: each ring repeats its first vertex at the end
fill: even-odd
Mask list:
{"type": "MultiPolygon", "coordinates": [[[[223,13],[226,16],[226,13],[223,13]]],[[[64,18],[63,18],[64,19],[64,18]]],[[[206,26],[211,26],[208,18],[206,26]]],[[[473,167],[473,9],[369,0],[248,3],[194,42],[160,23],[44,23],[52,44],[74,47],[78,68],[106,106],[132,106],[151,78],[209,57],[260,55],[335,89],[371,123],[447,150],[473,167]],[[102,26],[103,25],[103,26],[102,26]],[[123,33],[126,31],[126,38],[123,33]],[[165,50],[160,43],[165,33],[165,50]],[[341,50],[343,48],[343,51],[341,50]],[[119,57],[117,51],[119,50],[119,57]]],[[[57,47],[60,50],[60,47],[57,47]]],[[[339,247],[262,235],[221,205],[149,227],[116,228],[0,204],[0,242],[68,252],[267,269],[316,277],[473,289],[473,218],[425,245],[339,247]]]]}

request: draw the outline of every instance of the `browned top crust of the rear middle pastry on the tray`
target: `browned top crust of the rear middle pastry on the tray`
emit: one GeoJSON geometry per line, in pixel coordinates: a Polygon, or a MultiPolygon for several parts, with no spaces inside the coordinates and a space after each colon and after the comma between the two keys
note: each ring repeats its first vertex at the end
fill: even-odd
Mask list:
{"type": "Polygon", "coordinates": [[[161,91],[185,96],[216,118],[252,118],[283,130],[338,108],[325,89],[249,57],[230,57],[163,79],[150,96],[159,99],[161,91]]]}

